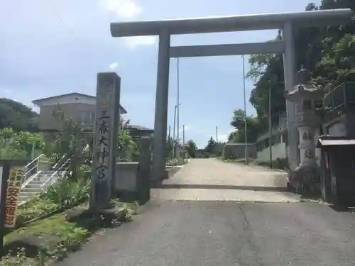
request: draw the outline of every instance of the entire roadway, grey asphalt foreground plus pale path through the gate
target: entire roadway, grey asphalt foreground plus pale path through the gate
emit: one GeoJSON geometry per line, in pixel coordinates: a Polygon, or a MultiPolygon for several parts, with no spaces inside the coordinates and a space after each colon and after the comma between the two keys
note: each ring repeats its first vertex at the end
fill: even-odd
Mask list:
{"type": "Polygon", "coordinates": [[[282,172],[192,160],[153,189],[132,223],[97,235],[59,265],[354,265],[354,214],[297,202],[283,187],[282,172]],[[229,190],[239,196],[222,198],[229,190]],[[266,192],[273,196],[251,201],[266,192]]]}

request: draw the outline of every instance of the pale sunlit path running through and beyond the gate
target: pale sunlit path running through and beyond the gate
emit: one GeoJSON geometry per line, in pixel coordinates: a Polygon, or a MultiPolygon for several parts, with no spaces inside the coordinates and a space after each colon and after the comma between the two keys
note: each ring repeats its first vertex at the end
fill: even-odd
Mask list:
{"type": "Polygon", "coordinates": [[[298,201],[286,191],[285,172],[265,167],[192,159],[152,190],[153,199],[202,201],[298,201]]]}

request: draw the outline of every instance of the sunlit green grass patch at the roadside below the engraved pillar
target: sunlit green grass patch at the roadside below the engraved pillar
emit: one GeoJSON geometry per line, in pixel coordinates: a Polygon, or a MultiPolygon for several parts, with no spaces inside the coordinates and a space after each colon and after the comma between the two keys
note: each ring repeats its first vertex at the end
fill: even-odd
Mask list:
{"type": "MultiPolygon", "coordinates": [[[[113,203],[115,206],[119,207],[119,209],[125,209],[127,211],[127,220],[129,220],[132,214],[138,214],[142,208],[137,203],[122,203],[117,200],[113,201],[113,203]]],[[[82,206],[84,205],[87,204],[82,204],[82,206]]],[[[55,260],[58,257],[77,250],[86,242],[92,233],[103,228],[102,226],[97,225],[84,226],[83,224],[85,223],[83,223],[83,221],[68,222],[65,220],[65,215],[65,212],[55,214],[50,218],[28,223],[27,225],[7,234],[4,238],[5,250],[12,248],[16,251],[18,248],[21,248],[21,246],[16,246],[17,244],[15,245],[15,243],[18,242],[16,240],[23,240],[31,235],[40,236],[40,238],[43,238],[43,241],[49,241],[51,239],[50,236],[54,235],[52,239],[55,239],[55,243],[51,248],[47,247],[47,250],[39,251],[34,255],[28,255],[26,250],[18,250],[18,253],[9,252],[9,255],[3,257],[1,260],[0,266],[45,265],[45,261],[55,260]]],[[[121,223],[110,221],[110,224],[111,226],[118,226],[121,223]]]]}

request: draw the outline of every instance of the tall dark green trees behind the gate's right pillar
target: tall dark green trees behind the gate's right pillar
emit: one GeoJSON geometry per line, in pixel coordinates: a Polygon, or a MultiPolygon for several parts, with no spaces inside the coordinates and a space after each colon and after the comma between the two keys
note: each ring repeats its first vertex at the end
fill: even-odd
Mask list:
{"type": "MultiPolygon", "coordinates": [[[[310,3],[306,11],[325,9],[352,9],[355,11],[354,0],[323,0],[320,6],[310,3]]],[[[274,40],[282,38],[278,33],[274,40]]],[[[322,28],[299,28],[294,32],[297,70],[302,65],[310,70],[312,82],[323,88],[336,87],[346,81],[355,81],[355,24],[354,18],[341,26],[322,28]]],[[[271,40],[273,41],[273,40],[271,40]]],[[[281,113],[285,112],[285,79],[283,73],[283,55],[251,55],[250,70],[247,78],[253,80],[254,89],[251,92],[250,103],[256,109],[254,118],[258,123],[258,133],[268,128],[268,91],[271,89],[271,119],[273,125],[278,123],[281,113]]],[[[231,133],[229,140],[243,140],[244,129],[240,110],[234,111],[231,125],[236,132],[231,133]],[[239,115],[238,115],[239,114],[239,115]],[[238,123],[236,123],[238,121],[238,123]]],[[[247,120],[247,126],[249,126],[247,120]]],[[[252,126],[251,126],[252,128],[252,126]]],[[[254,131],[248,136],[254,139],[254,131]]]]}

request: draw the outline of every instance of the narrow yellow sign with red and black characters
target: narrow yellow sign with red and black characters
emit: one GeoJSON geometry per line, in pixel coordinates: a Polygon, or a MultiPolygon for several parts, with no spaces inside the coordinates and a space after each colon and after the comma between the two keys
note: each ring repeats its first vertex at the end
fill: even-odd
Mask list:
{"type": "Polygon", "coordinates": [[[23,167],[11,168],[6,189],[5,227],[7,228],[14,228],[16,226],[16,213],[18,199],[20,198],[22,179],[23,167]]]}

